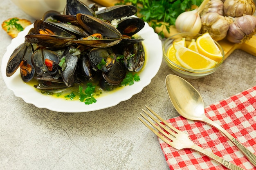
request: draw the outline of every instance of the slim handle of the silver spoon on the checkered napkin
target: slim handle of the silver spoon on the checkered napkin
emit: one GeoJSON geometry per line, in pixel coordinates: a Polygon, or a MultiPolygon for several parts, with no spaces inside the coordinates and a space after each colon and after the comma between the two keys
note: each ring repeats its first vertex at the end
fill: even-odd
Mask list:
{"type": "Polygon", "coordinates": [[[216,124],[214,121],[212,121],[208,117],[207,117],[207,119],[204,119],[203,121],[205,123],[215,127],[220,132],[222,132],[227,138],[229,138],[229,140],[232,141],[232,143],[235,144],[241,152],[243,152],[245,157],[247,157],[247,159],[249,159],[249,161],[254,165],[254,167],[256,167],[256,155],[254,155],[251,151],[249,151],[247,148],[245,148],[245,146],[243,146],[238,141],[238,139],[234,138],[232,135],[229,134],[229,132],[227,132],[227,130],[222,128],[219,124],[216,124]]]}

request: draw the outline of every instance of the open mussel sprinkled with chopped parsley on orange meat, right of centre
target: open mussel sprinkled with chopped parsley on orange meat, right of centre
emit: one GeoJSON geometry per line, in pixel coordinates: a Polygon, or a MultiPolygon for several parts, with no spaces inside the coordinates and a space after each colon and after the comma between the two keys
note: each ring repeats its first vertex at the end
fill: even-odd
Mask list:
{"type": "Polygon", "coordinates": [[[95,70],[110,71],[116,55],[111,48],[94,48],[89,53],[89,61],[95,70]]]}

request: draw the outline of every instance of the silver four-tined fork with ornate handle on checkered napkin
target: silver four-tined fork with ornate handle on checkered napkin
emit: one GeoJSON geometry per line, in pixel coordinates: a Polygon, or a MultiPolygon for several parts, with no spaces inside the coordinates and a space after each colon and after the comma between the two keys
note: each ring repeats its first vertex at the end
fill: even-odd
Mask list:
{"type": "Polygon", "coordinates": [[[175,127],[173,127],[171,124],[169,124],[167,121],[165,121],[164,119],[162,119],[159,115],[157,115],[152,109],[150,109],[148,106],[145,106],[153,115],[155,115],[155,117],[157,117],[160,121],[162,121],[166,126],[168,126],[169,128],[167,128],[166,126],[164,126],[162,123],[160,123],[159,121],[157,121],[157,119],[155,117],[153,117],[150,113],[148,113],[146,110],[142,109],[144,113],[146,113],[146,115],[148,115],[148,117],[150,117],[153,121],[155,121],[155,123],[157,123],[159,126],[161,126],[164,130],[166,130],[167,132],[165,132],[164,130],[162,130],[159,126],[157,126],[153,121],[150,121],[150,119],[148,119],[148,117],[146,117],[146,115],[140,113],[140,115],[142,117],[144,117],[144,119],[146,119],[146,121],[148,121],[148,123],[150,123],[154,128],[152,128],[149,124],[147,124],[144,120],[142,120],[140,117],[139,120],[146,125],[152,132],[155,133],[155,135],[157,135],[160,139],[162,139],[164,142],[166,142],[168,145],[172,146],[173,148],[177,149],[177,150],[181,150],[181,149],[185,149],[185,148],[189,148],[189,149],[193,149],[196,150],[208,157],[210,157],[211,159],[214,159],[215,161],[219,162],[220,164],[222,164],[222,166],[226,167],[229,170],[243,170],[243,168],[240,168],[236,165],[234,165],[233,163],[230,163],[229,161],[226,161],[225,159],[222,159],[221,157],[213,154],[212,152],[205,150],[203,148],[201,148],[200,146],[194,144],[190,139],[189,139],[189,135],[187,135],[186,133],[176,129],[175,127]],[[173,131],[174,132],[173,132],[173,131]],[[159,132],[162,133],[162,136],[159,132]],[[168,139],[166,139],[166,137],[168,139]]]}

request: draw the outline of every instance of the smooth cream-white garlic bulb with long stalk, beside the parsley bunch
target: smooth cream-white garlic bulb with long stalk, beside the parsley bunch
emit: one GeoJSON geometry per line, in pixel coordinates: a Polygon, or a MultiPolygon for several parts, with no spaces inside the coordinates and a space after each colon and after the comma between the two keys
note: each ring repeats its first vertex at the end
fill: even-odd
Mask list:
{"type": "Polygon", "coordinates": [[[208,2],[209,0],[204,0],[197,9],[181,13],[175,21],[177,31],[199,33],[202,27],[200,12],[208,2]]]}

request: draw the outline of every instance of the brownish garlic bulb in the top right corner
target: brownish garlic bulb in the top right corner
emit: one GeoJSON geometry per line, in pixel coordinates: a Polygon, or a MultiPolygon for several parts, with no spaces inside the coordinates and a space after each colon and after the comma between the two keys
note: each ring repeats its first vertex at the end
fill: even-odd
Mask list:
{"type": "Polygon", "coordinates": [[[253,15],[255,4],[253,0],[225,0],[224,13],[226,16],[240,17],[243,15],[253,15]]]}

